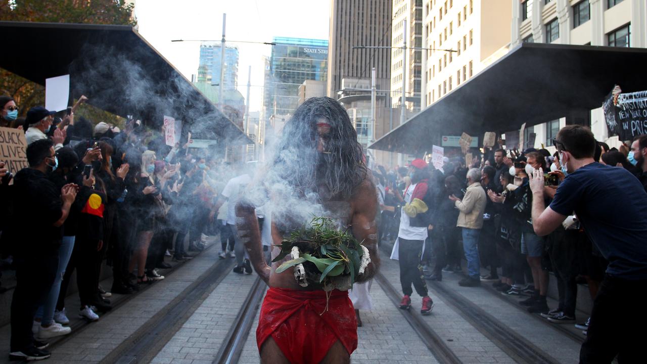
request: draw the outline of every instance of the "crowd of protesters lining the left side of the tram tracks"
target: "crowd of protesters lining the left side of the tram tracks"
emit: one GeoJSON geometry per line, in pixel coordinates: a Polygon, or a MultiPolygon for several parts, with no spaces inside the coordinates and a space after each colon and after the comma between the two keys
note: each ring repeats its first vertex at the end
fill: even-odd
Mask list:
{"type": "MultiPolygon", "coordinates": [[[[14,171],[0,163],[0,247],[16,270],[11,359],[47,358],[45,340],[71,332],[65,299],[74,271],[76,313],[96,321],[111,310],[112,293],[164,279],[159,269],[171,267],[165,256],[184,262],[193,258],[188,252],[202,251],[223,226],[215,223],[218,210],[217,218],[233,223],[221,216],[226,203],[215,207],[223,177],[234,173],[228,163],[190,149],[190,142],[166,146],[163,130],[139,120],[129,119],[124,130],[75,120],[85,100],[61,120],[40,106],[19,119],[16,102],[0,98],[1,126],[25,131],[28,162],[14,171]],[[112,267],[109,290],[99,284],[104,262],[112,267]]],[[[221,236],[221,258],[233,258],[232,234],[221,236]]],[[[249,267],[241,261],[238,273],[243,266],[249,267]]]]}

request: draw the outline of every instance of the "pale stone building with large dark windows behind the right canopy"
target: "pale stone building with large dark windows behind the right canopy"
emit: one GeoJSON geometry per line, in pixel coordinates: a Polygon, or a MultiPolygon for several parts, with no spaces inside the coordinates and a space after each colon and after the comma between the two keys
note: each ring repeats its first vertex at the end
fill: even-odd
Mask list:
{"type": "MultiPolygon", "coordinates": [[[[514,47],[521,42],[645,48],[647,1],[513,1],[510,44],[514,47]]],[[[575,117],[570,115],[559,120],[546,120],[543,124],[527,128],[525,133],[535,133],[534,147],[541,144],[550,146],[557,131],[567,122],[590,126],[596,139],[606,141],[610,146],[620,144],[617,137],[609,138],[602,108],[575,117]]]]}

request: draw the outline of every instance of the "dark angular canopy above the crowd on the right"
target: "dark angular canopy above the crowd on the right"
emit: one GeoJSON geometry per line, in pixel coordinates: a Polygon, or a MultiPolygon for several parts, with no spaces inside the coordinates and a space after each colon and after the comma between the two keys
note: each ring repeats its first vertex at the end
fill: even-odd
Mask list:
{"type": "Polygon", "coordinates": [[[523,43],[368,148],[421,154],[441,135],[483,137],[602,106],[618,84],[647,87],[647,49],[523,43]]]}

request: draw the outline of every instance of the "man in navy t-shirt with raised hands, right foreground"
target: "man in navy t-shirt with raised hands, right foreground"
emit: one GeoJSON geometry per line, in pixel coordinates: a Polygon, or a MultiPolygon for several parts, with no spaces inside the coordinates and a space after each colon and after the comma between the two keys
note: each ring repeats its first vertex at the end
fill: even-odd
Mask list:
{"type": "Polygon", "coordinates": [[[565,126],[553,142],[566,177],[544,209],[543,171],[531,176],[534,231],[549,234],[575,211],[609,261],[580,363],[610,363],[615,356],[621,363],[638,363],[644,350],[631,329],[647,324],[644,300],[639,299],[647,291],[647,192],[624,168],[594,161],[596,141],[588,128],[565,126]]]}

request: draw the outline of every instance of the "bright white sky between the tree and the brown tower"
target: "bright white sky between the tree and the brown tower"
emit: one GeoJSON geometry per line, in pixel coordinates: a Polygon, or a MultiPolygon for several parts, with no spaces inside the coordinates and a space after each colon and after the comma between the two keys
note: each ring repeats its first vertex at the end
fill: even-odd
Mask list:
{"type": "MultiPolygon", "coordinates": [[[[274,36],[328,39],[329,0],[137,0],[135,16],[141,36],[191,80],[197,74],[199,41],[220,40],[223,13],[227,41],[272,41],[274,36]]],[[[247,93],[248,67],[252,66],[250,111],[262,108],[263,60],[271,45],[237,45],[238,91],[247,93]]]]}

